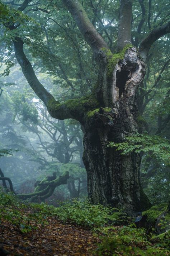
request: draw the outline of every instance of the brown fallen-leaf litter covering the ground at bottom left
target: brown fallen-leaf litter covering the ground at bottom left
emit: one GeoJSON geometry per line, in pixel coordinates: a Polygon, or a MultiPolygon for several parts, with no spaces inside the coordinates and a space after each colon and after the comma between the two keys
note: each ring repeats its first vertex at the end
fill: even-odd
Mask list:
{"type": "Polygon", "coordinates": [[[0,255],[92,255],[100,242],[92,232],[75,225],[62,224],[50,217],[48,224],[27,234],[16,225],[3,221],[0,225],[0,255]]]}

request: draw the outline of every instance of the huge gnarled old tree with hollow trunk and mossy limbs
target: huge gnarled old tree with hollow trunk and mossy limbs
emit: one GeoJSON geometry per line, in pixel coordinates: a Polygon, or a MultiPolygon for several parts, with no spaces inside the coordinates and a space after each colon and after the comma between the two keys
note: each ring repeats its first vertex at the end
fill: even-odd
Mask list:
{"type": "MultiPolygon", "coordinates": [[[[24,0],[22,4],[18,4],[18,11],[22,12],[31,6],[30,2],[31,0],[24,0]]],[[[93,8],[93,1],[90,2],[93,8]]],[[[100,1],[97,2],[98,6],[100,1]]],[[[115,2],[117,4],[117,1],[107,1],[106,4],[113,5],[114,10],[115,2]]],[[[108,35],[110,44],[104,40],[80,1],[62,0],[62,3],[91,47],[93,58],[98,65],[98,79],[92,92],[81,98],[59,102],[39,82],[24,53],[24,40],[19,35],[13,38],[16,59],[30,87],[44,102],[53,118],[72,118],[80,122],[84,133],[83,162],[91,202],[110,204],[114,207],[123,206],[129,212],[146,209],[150,202],[140,184],[140,154],[131,152],[122,155],[121,151],[108,145],[109,142],[121,143],[125,136],[143,132],[145,122],[138,111],[137,90],[145,76],[150,48],[156,40],[170,32],[170,22],[165,19],[151,28],[149,1],[147,26],[150,32],[141,41],[140,36],[133,40],[131,25],[134,3],[132,0],[120,0],[119,24],[115,35],[117,47],[113,49],[110,47],[112,38],[108,35]]],[[[137,27],[139,35],[146,21],[146,10],[143,0],[138,0],[138,3],[141,7],[141,20],[137,27]]],[[[57,6],[55,8],[57,10],[57,6]]],[[[95,10],[97,9],[94,8],[94,12],[95,10]]],[[[97,14],[95,18],[98,18],[97,14]]],[[[102,23],[102,20],[99,23],[102,23]]],[[[5,26],[13,32],[19,27],[19,22],[10,20],[5,26]]],[[[107,35],[107,31],[105,34],[107,35]]]]}

